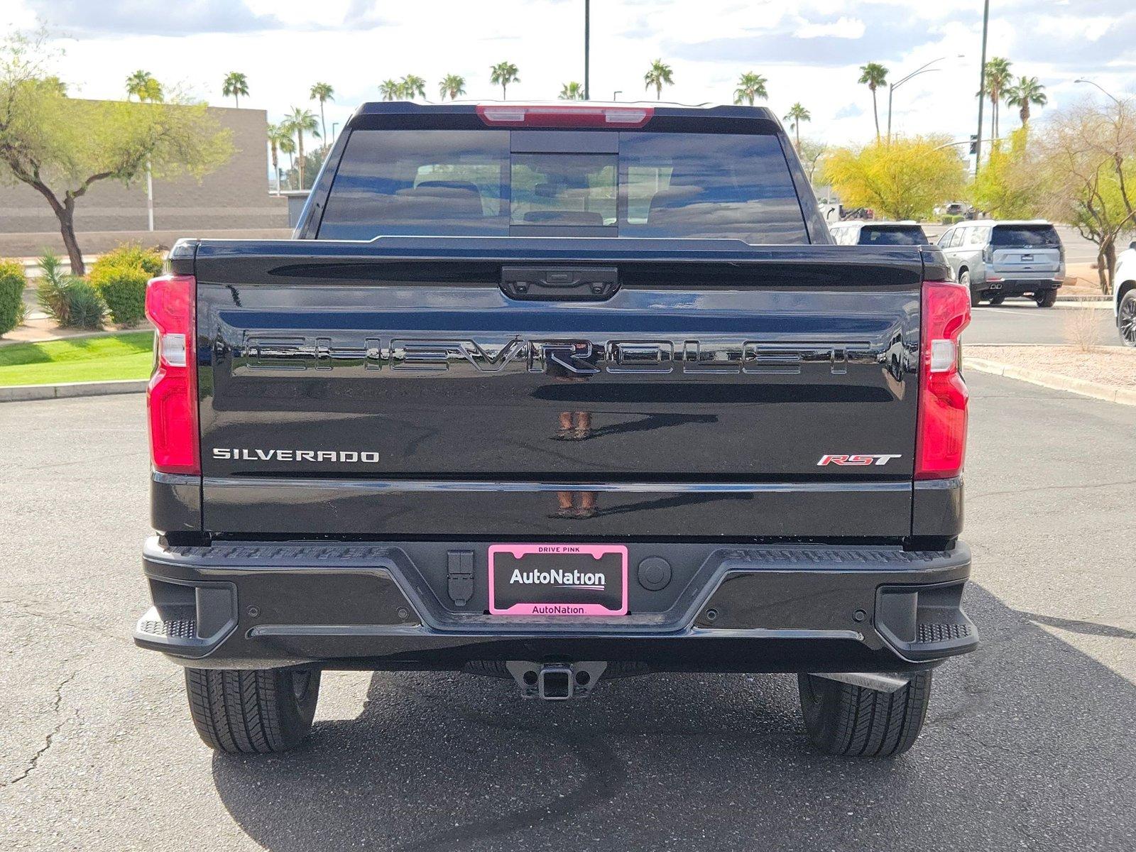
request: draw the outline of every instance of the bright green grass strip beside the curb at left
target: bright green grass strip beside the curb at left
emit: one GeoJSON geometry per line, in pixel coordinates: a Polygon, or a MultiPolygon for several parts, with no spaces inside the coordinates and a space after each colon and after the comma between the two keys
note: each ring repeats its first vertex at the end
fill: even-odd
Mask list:
{"type": "Polygon", "coordinates": [[[153,333],[0,346],[0,386],[149,378],[153,333]]]}

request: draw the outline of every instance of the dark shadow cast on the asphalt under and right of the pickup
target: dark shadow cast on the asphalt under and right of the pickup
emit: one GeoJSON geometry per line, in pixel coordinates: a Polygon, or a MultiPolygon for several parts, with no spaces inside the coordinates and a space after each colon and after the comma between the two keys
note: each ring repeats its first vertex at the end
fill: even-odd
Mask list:
{"type": "Polygon", "coordinates": [[[549,705],[379,674],[358,718],[286,757],[217,755],[214,780],[279,852],[1131,849],[1136,687],[978,586],[968,611],[984,644],[936,673],[894,761],[813,752],[787,676],[652,675],[549,705]]]}

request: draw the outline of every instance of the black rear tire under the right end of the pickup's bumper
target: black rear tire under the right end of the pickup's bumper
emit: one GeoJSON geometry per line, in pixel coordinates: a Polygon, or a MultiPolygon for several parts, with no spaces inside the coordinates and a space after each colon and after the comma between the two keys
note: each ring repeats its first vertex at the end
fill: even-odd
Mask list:
{"type": "Polygon", "coordinates": [[[891,758],[910,749],[930,701],[930,670],[895,692],[877,692],[816,675],[797,675],[809,740],[845,758],[891,758]]]}

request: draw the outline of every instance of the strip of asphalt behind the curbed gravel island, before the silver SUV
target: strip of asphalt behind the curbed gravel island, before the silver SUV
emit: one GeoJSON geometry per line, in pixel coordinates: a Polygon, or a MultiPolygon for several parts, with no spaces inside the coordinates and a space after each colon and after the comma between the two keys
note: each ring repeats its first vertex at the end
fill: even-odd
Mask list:
{"type": "Polygon", "coordinates": [[[1002,304],[980,304],[970,311],[970,325],[962,333],[963,343],[1074,343],[1081,328],[1093,328],[1094,345],[1119,346],[1117,320],[1111,302],[1058,302],[1038,308],[1027,299],[1010,299],[1002,304]],[[1088,323],[1083,319],[1088,314],[1088,323]]]}

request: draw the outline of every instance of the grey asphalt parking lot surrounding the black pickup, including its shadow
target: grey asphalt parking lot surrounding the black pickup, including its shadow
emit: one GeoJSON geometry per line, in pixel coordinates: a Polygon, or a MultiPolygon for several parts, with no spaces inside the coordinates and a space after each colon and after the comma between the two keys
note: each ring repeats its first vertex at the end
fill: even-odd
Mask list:
{"type": "Polygon", "coordinates": [[[892,762],[805,744],[786,676],[652,675],[579,703],[332,673],[310,744],[214,755],[136,650],[142,398],[0,406],[0,849],[1131,850],[1136,425],[975,375],[968,610],[892,762]]]}

